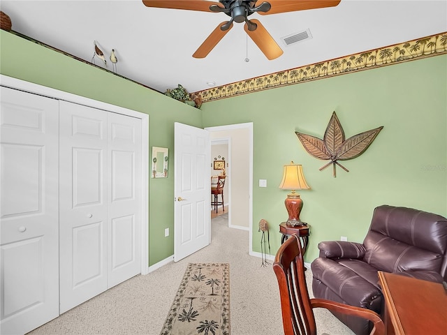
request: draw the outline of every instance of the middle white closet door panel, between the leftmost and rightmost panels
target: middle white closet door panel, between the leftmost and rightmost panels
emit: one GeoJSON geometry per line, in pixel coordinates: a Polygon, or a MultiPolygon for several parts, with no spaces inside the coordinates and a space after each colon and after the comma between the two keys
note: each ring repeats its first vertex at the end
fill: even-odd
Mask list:
{"type": "Polygon", "coordinates": [[[107,112],[60,101],[60,312],[108,288],[107,112]]]}

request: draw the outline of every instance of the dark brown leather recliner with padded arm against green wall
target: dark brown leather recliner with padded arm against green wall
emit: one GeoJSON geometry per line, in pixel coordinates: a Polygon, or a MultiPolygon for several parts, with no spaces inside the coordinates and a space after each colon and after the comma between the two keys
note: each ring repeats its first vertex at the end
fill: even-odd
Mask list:
{"type": "MultiPolygon", "coordinates": [[[[374,209],[363,244],[324,241],[312,262],[316,298],[369,308],[383,318],[377,271],[427,281],[447,281],[447,218],[406,207],[374,209]]],[[[411,292],[409,292],[411,294],[411,292]]],[[[334,313],[357,335],[369,334],[365,320],[334,313]]]]}

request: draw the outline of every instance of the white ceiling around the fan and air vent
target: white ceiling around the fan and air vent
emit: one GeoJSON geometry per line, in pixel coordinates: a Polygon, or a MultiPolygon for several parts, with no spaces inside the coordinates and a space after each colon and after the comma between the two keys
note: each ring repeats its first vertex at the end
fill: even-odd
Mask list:
{"type": "Polygon", "coordinates": [[[14,31],[86,61],[94,40],[107,60],[115,49],[119,75],[162,92],[177,84],[200,91],[210,81],[220,86],[447,31],[447,0],[342,0],[332,8],[251,15],[284,50],[272,61],[237,23],[205,59],[194,59],[203,40],[228,20],[224,13],[148,8],[141,0],[1,0],[0,8],[14,31]],[[305,29],[312,39],[281,44],[281,37],[305,29]]]}

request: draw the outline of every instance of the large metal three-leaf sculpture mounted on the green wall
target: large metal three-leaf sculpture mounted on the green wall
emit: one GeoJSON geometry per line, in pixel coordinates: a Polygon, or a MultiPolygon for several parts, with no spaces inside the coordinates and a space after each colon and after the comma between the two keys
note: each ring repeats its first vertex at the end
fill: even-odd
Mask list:
{"type": "Polygon", "coordinates": [[[370,131],[365,131],[345,140],[342,124],[340,124],[337,114],[333,112],[328,128],[326,128],[324,133],[323,140],[318,137],[299,133],[298,131],[295,131],[295,133],[300,139],[302,146],[305,147],[306,151],[311,156],[325,161],[330,160],[328,164],[320,168],[320,171],[332,164],[332,173],[335,177],[335,165],[338,165],[346,172],[349,172],[349,170],[338,161],[346,161],[363,154],[382,128],[383,126],[370,131]]]}

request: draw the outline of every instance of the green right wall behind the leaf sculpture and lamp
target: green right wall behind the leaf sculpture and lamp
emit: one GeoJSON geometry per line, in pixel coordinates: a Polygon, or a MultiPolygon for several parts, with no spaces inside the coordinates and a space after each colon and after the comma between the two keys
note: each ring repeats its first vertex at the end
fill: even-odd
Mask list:
{"type": "Polygon", "coordinates": [[[272,254],[277,225],[286,221],[278,188],[282,165],[303,165],[311,190],[301,219],[311,236],[307,262],[319,241],[348,237],[362,241],[374,207],[413,207],[447,216],[447,55],[305,82],[203,104],[203,125],[254,122],[253,248],[261,252],[258,222],[270,223],[272,254]],[[336,112],[346,139],[379,126],[383,130],[364,154],[342,161],[349,172],[313,158],[295,131],[323,138],[336,112]],[[268,179],[267,188],[258,179],[268,179]]]}

